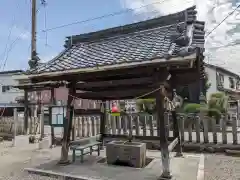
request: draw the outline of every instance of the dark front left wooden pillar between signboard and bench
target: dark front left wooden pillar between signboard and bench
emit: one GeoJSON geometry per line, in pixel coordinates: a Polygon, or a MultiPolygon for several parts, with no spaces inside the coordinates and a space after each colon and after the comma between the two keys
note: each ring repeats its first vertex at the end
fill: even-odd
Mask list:
{"type": "Polygon", "coordinates": [[[63,132],[63,142],[62,142],[62,151],[61,151],[61,159],[59,164],[68,164],[68,151],[69,151],[69,143],[70,143],[70,135],[72,129],[72,118],[73,118],[73,97],[76,94],[76,83],[71,82],[69,84],[69,91],[68,91],[68,100],[67,100],[67,114],[66,118],[64,119],[64,132],[63,132]]]}

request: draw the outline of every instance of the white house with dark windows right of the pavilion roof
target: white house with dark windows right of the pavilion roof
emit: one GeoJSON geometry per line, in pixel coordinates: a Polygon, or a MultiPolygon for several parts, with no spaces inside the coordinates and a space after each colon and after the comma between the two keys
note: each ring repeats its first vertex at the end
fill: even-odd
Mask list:
{"type": "Polygon", "coordinates": [[[212,93],[226,92],[232,99],[240,99],[240,77],[225,68],[205,64],[208,81],[211,83],[207,91],[207,99],[212,93]]]}

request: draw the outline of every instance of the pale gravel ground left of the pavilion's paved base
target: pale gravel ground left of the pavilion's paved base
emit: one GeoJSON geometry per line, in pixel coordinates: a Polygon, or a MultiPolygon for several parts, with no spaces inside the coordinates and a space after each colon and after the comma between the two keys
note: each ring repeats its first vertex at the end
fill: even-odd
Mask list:
{"type": "MultiPolygon", "coordinates": [[[[55,178],[30,175],[24,168],[39,165],[54,158],[53,151],[36,150],[36,145],[17,149],[8,143],[0,144],[0,180],[56,180],[55,178]]],[[[59,153],[57,154],[59,156],[59,153]]]]}

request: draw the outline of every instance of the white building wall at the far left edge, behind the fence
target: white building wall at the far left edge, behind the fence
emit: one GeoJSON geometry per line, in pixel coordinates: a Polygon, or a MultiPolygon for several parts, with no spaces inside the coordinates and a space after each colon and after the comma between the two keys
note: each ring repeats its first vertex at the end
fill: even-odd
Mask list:
{"type": "Polygon", "coordinates": [[[16,97],[24,95],[23,91],[14,88],[7,92],[2,92],[3,85],[16,86],[18,82],[14,80],[13,74],[0,74],[0,103],[16,102],[16,97]]]}

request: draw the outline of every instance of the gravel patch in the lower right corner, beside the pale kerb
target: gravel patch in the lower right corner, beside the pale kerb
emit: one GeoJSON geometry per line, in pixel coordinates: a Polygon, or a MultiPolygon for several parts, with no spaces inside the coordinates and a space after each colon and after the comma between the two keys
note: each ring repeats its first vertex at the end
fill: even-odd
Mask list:
{"type": "Polygon", "coordinates": [[[204,180],[240,180],[240,158],[223,154],[205,155],[204,180]]]}

